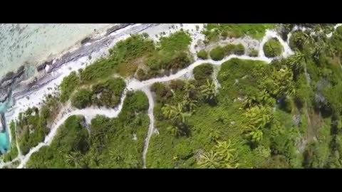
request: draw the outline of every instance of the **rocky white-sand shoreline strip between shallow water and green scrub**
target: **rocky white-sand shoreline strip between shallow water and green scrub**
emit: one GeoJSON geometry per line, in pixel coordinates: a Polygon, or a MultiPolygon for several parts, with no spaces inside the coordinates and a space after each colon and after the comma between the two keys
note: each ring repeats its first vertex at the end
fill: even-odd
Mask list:
{"type": "MultiPolygon", "coordinates": [[[[56,55],[53,59],[47,58],[46,60],[51,60],[49,62],[44,61],[43,64],[38,64],[34,66],[35,73],[31,76],[26,74],[26,66],[22,65],[16,71],[12,71],[6,73],[4,77],[0,78],[0,107],[1,112],[4,112],[5,117],[5,130],[2,134],[6,134],[6,144],[9,145],[11,143],[11,132],[9,130],[9,123],[12,119],[14,119],[19,112],[27,109],[28,105],[24,105],[27,101],[24,101],[24,97],[30,95],[32,97],[33,102],[31,102],[30,106],[39,106],[40,102],[37,102],[43,99],[43,95],[51,93],[50,89],[47,90],[46,87],[51,86],[50,82],[55,81],[53,85],[58,85],[63,77],[68,75],[66,71],[67,68],[63,68],[63,70],[57,71],[63,65],[71,63],[70,67],[79,68],[79,66],[73,66],[72,61],[78,60],[81,57],[84,57],[86,54],[91,54],[105,47],[105,45],[101,46],[101,40],[108,38],[111,34],[115,33],[120,29],[125,28],[126,26],[130,26],[131,24],[113,24],[108,28],[103,28],[102,31],[90,34],[86,36],[86,38],[81,39],[75,45],[63,50],[62,53],[56,55]],[[88,42],[84,42],[84,41],[88,42]],[[90,46],[91,43],[99,42],[98,45],[94,48],[90,46]],[[81,54],[84,48],[88,47],[88,51],[86,53],[81,54]],[[58,65],[51,68],[51,70],[46,70],[46,65],[48,63],[54,64],[59,62],[58,65]],[[57,81],[56,81],[57,80],[57,81]],[[39,90],[37,93],[36,91],[39,90]],[[34,92],[36,94],[31,95],[34,92]],[[8,105],[9,100],[13,100],[13,105],[8,105]]],[[[90,55],[89,54],[89,55],[90,55]]],[[[97,55],[94,55],[97,58],[97,55]]],[[[94,60],[94,59],[93,59],[94,60]]],[[[83,62],[91,63],[93,60],[85,60],[83,58],[83,62]]],[[[78,63],[83,65],[82,63],[78,63]]],[[[53,86],[54,87],[54,86],[53,86]]],[[[4,139],[4,138],[3,138],[4,139]]],[[[1,148],[1,147],[0,147],[1,148]]],[[[9,146],[7,147],[9,148],[9,146]]]]}

